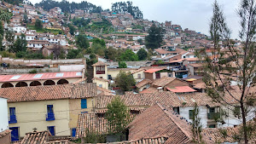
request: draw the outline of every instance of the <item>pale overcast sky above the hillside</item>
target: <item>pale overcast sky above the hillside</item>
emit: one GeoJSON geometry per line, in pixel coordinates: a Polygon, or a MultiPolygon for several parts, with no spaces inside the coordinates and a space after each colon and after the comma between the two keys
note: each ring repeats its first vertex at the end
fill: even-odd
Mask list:
{"type": "MultiPolygon", "coordinates": [[[[40,0],[30,0],[33,4],[40,0]]],[[[61,0],[59,0],[61,1],[61,0]]],[[[69,2],[81,2],[81,0],[67,0],[69,2]]],[[[123,0],[124,1],[124,0],[123,0]]],[[[212,3],[214,0],[130,0],[134,6],[143,11],[144,19],[164,22],[172,20],[172,24],[181,25],[184,28],[202,32],[208,35],[209,23],[212,16],[212,3]]],[[[103,9],[111,9],[112,3],[120,0],[87,0],[103,9]]],[[[126,1],[125,1],[126,2],[126,1]]],[[[236,38],[240,30],[239,19],[236,14],[240,0],[218,0],[224,9],[228,26],[232,31],[232,37],[236,38]]]]}

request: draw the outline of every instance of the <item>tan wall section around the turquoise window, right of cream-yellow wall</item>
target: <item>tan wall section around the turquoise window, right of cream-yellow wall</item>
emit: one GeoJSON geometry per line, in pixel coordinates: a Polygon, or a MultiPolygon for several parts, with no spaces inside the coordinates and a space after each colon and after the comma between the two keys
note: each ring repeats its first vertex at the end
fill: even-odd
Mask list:
{"type": "Polygon", "coordinates": [[[69,128],[76,128],[78,126],[79,114],[81,112],[92,112],[93,107],[95,107],[95,101],[93,101],[93,98],[87,98],[87,108],[84,109],[81,109],[81,99],[69,100],[69,128]]]}

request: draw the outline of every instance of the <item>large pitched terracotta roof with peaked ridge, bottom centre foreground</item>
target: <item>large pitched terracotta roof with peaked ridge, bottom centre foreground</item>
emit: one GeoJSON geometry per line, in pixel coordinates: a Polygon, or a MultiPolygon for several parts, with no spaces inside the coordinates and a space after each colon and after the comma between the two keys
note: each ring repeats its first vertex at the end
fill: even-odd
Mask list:
{"type": "Polygon", "coordinates": [[[190,143],[190,124],[159,103],[149,107],[128,125],[129,140],[166,135],[166,143],[190,143]]]}

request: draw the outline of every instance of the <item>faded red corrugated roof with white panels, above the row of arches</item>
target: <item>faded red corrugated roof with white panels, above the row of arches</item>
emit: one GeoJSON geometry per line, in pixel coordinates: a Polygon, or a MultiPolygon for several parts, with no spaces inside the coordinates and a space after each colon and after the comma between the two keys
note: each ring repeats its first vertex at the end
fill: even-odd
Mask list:
{"type": "Polygon", "coordinates": [[[38,79],[81,78],[82,72],[48,72],[35,74],[0,75],[0,82],[14,82],[38,79]]]}

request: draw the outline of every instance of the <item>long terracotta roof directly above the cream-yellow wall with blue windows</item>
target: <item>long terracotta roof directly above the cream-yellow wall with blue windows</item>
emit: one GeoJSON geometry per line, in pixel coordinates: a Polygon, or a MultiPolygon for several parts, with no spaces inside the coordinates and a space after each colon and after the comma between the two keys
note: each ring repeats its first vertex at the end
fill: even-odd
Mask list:
{"type": "Polygon", "coordinates": [[[96,84],[61,84],[34,87],[2,88],[0,95],[8,102],[81,99],[96,96],[96,84]]]}

